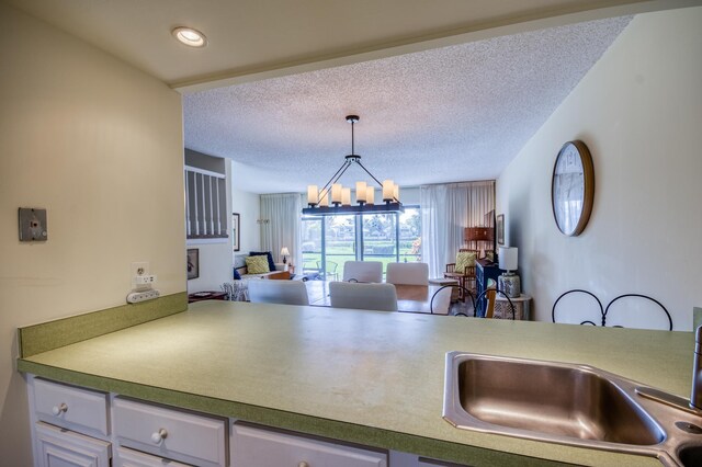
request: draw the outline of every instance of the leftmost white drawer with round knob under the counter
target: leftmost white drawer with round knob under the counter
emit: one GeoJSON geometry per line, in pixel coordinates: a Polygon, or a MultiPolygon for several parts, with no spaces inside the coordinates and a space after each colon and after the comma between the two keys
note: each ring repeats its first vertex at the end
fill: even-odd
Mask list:
{"type": "Polygon", "coordinates": [[[77,431],[109,434],[106,394],[35,378],[34,407],[42,421],[77,431]]]}

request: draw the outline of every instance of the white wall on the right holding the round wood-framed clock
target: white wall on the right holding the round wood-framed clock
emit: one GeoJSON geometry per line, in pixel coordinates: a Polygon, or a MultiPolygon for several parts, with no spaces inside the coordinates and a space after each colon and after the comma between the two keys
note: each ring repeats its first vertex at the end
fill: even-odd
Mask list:
{"type": "Polygon", "coordinates": [[[702,8],[636,16],[499,178],[497,212],[537,320],[551,320],[563,292],[585,288],[604,306],[649,295],[675,329],[691,329],[702,304],[701,24],[702,8]],[[570,238],[553,219],[551,175],[573,139],[592,152],[596,194],[590,223],[570,238]]]}

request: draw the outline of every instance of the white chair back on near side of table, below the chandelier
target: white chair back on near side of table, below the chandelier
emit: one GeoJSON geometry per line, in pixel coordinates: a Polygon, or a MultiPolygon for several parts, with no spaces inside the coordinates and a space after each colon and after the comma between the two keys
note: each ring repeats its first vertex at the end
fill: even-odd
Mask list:
{"type": "Polygon", "coordinates": [[[397,311],[397,291],[393,284],[332,282],[329,298],[333,308],[397,311]]]}

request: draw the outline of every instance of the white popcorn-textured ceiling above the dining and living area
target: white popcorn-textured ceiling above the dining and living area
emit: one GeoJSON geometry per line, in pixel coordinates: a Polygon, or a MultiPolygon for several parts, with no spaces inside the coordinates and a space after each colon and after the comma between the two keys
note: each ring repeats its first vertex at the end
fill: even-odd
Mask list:
{"type": "MultiPolygon", "coordinates": [[[[351,151],[403,186],[495,179],[631,16],[219,88],[183,96],[185,146],[236,161],[237,187],[322,185],[351,151]]],[[[564,136],[567,137],[567,136],[564,136]]],[[[344,184],[367,180],[351,168],[344,184]]],[[[370,180],[369,180],[370,181],[370,180]]]]}

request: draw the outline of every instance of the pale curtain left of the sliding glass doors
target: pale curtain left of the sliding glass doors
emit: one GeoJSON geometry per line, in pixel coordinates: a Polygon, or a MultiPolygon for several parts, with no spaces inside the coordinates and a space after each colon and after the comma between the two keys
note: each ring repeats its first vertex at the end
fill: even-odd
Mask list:
{"type": "Polygon", "coordinates": [[[271,251],[276,263],[283,261],[281,249],[287,247],[288,262],[302,259],[299,193],[261,195],[261,249],[271,251]]]}

